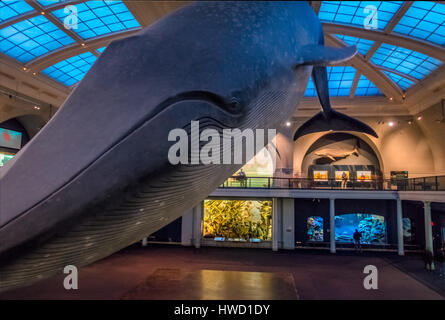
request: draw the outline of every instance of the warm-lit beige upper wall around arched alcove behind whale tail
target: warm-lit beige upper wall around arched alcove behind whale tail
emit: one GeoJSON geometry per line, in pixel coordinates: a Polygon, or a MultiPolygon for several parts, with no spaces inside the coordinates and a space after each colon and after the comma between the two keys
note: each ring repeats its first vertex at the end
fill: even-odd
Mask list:
{"type": "MultiPolygon", "coordinates": [[[[440,104],[413,116],[411,123],[407,117],[358,117],[370,125],[378,134],[374,138],[365,134],[351,134],[366,142],[380,162],[385,178],[391,171],[408,171],[408,176],[424,177],[445,174],[445,123],[441,118],[440,104]],[[421,120],[417,117],[421,116],[421,120]],[[393,126],[389,126],[393,122],[393,126]]],[[[294,176],[308,177],[304,158],[310,147],[327,132],[313,133],[294,142],[294,176]]],[[[357,163],[360,165],[360,163],[357,163]]]]}

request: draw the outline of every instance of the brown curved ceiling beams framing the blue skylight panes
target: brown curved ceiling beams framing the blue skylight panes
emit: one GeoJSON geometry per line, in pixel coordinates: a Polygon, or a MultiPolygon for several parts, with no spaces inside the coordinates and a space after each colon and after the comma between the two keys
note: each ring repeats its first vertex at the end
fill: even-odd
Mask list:
{"type": "MultiPolygon", "coordinates": [[[[64,61],[70,57],[90,52],[94,56],[98,57],[100,52],[97,49],[107,46],[111,41],[130,36],[138,31],[139,28],[131,28],[121,30],[119,32],[108,33],[104,36],[92,37],[89,39],[82,39],[78,34],[72,30],[64,28],[63,23],[53,14],[53,12],[63,9],[67,5],[76,5],[86,2],[86,0],[64,0],[57,2],[51,6],[43,6],[37,0],[24,0],[34,10],[21,15],[17,15],[9,20],[0,22],[0,29],[7,26],[12,26],[17,22],[25,21],[27,19],[38,17],[43,15],[59,29],[67,33],[74,43],[63,46],[62,48],[48,52],[35,59],[30,60],[24,64],[7,57],[5,54],[0,54],[0,66],[4,66],[5,72],[0,72],[0,85],[8,87],[11,90],[17,90],[19,85],[17,81],[25,81],[26,83],[33,83],[35,87],[37,83],[42,83],[42,88],[39,91],[48,93],[38,93],[38,95],[31,95],[33,98],[46,99],[46,102],[53,103],[59,106],[67,96],[71,87],[65,87],[53,80],[52,78],[42,74],[42,71],[54,64],[64,61]],[[17,75],[17,73],[21,73],[17,75]],[[2,77],[3,75],[3,77],[2,77]],[[5,77],[6,76],[6,77],[5,77]],[[38,81],[35,81],[38,80],[38,81]],[[57,98],[54,98],[57,96],[57,98]],[[52,97],[52,99],[48,98],[52,97]],[[58,103],[57,103],[58,102],[58,103]]],[[[124,4],[133,14],[134,18],[139,22],[141,27],[145,27],[160,19],[169,12],[181,7],[188,2],[186,1],[131,1],[123,0],[124,4]]],[[[436,1],[437,3],[444,3],[443,1],[436,1]]],[[[322,1],[310,1],[312,8],[316,13],[320,11],[322,7],[322,1]]],[[[388,106],[387,110],[393,110],[400,107],[398,112],[402,109],[408,110],[409,113],[421,111],[422,108],[428,107],[440,99],[445,97],[445,47],[439,44],[414,38],[408,35],[393,32],[394,28],[398,25],[400,20],[404,17],[414,1],[405,1],[386,23],[383,30],[368,30],[365,28],[332,23],[323,22],[323,29],[325,32],[326,44],[330,46],[346,46],[347,43],[335,35],[344,35],[355,37],[359,39],[372,40],[374,43],[367,51],[365,55],[358,53],[353,59],[348,61],[345,65],[352,66],[356,69],[356,74],[352,82],[349,95],[347,97],[334,97],[333,104],[337,106],[347,106],[348,108],[353,105],[354,101],[361,100],[365,104],[371,105],[378,101],[378,105],[388,106]],[[406,48],[414,52],[418,52],[434,59],[440,60],[443,65],[431,72],[423,79],[416,79],[408,74],[401,73],[397,70],[379,66],[372,62],[373,55],[379,50],[382,44],[393,45],[397,47],[406,48]],[[392,73],[395,76],[390,77],[392,73]],[[382,97],[356,97],[355,92],[357,85],[362,76],[371,81],[385,96],[382,97]],[[397,78],[398,77],[398,78],[397,78]],[[412,85],[404,91],[394,79],[405,80],[412,85]],[[429,104],[429,105],[427,105],[429,104]]],[[[445,4],[444,4],[445,5],[445,4]]],[[[1,21],[1,20],[0,20],[1,21]]],[[[31,86],[32,87],[32,86],[31,86]]],[[[40,86],[39,86],[40,87],[40,86]]],[[[28,90],[29,91],[29,90],[28,90]]],[[[29,92],[21,92],[29,94],[29,92]]],[[[363,105],[363,103],[360,103],[363,105]]],[[[310,110],[310,106],[316,104],[316,98],[303,99],[303,108],[310,110]]],[[[381,108],[379,109],[381,110],[381,108]]],[[[313,113],[309,111],[308,114],[313,113]]],[[[304,112],[302,113],[304,114],[304,112]]]]}

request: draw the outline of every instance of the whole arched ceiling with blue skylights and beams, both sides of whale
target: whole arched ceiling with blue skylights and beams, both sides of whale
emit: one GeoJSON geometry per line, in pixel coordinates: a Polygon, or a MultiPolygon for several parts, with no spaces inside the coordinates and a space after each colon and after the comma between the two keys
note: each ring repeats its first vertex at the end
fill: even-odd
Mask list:
{"type": "MultiPolygon", "coordinates": [[[[0,65],[17,81],[27,78],[37,87],[42,82],[45,92],[60,95],[63,101],[112,40],[131,35],[186,3],[0,0],[0,65]],[[78,11],[77,29],[65,28],[72,23],[72,10],[65,9],[69,5],[78,11]]],[[[414,108],[427,103],[425,94],[428,103],[432,92],[436,99],[445,97],[443,1],[310,3],[323,23],[327,45],[358,47],[353,59],[328,68],[330,94],[338,103],[366,97],[374,104],[414,108]]],[[[7,80],[0,85],[11,88],[7,80]]],[[[316,101],[312,81],[305,96],[303,105],[316,101]]]]}

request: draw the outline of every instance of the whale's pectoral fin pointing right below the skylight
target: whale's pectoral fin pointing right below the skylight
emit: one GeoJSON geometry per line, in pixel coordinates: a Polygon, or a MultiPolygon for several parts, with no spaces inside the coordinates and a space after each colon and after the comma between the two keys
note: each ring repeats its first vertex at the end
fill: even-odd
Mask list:
{"type": "Polygon", "coordinates": [[[357,53],[357,47],[334,48],[324,45],[307,45],[301,49],[299,65],[326,66],[347,61],[357,53]]]}

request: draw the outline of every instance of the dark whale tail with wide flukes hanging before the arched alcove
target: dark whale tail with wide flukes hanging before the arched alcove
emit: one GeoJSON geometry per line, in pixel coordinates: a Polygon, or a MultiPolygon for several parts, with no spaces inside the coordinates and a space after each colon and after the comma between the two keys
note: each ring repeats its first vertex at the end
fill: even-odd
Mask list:
{"type": "Polygon", "coordinates": [[[329,130],[363,132],[378,138],[377,133],[367,124],[332,109],[329,100],[326,67],[314,67],[312,70],[312,79],[317,89],[318,99],[320,100],[323,112],[316,114],[298,128],[294,135],[294,140],[297,140],[305,134],[329,130]]]}

